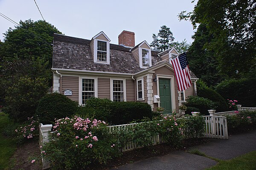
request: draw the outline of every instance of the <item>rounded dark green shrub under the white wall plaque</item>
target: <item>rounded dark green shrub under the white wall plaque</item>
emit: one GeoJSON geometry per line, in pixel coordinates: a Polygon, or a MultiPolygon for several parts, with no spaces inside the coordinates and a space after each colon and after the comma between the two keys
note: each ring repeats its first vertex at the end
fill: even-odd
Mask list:
{"type": "Polygon", "coordinates": [[[54,124],[54,119],[76,113],[78,104],[59,93],[51,93],[40,99],[36,114],[42,124],[54,124]]]}

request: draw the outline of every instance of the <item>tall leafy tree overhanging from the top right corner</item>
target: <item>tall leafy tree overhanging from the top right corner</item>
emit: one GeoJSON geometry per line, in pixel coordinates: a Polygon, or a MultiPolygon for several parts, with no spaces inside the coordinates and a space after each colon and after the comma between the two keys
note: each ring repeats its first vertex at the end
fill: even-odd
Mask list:
{"type": "MultiPolygon", "coordinates": [[[[179,14],[196,28],[204,23],[213,35],[210,46],[220,71],[231,77],[253,74],[256,64],[256,1],[198,0],[193,12],[179,14]]],[[[255,76],[255,75],[254,75],[255,76]]]]}

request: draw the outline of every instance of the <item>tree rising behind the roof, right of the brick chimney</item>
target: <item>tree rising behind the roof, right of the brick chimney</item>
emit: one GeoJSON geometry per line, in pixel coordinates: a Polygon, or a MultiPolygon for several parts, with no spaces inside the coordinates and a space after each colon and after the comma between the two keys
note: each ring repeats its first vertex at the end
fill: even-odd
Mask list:
{"type": "Polygon", "coordinates": [[[170,43],[174,40],[170,28],[161,26],[157,36],[153,34],[153,42],[150,44],[154,50],[164,51],[169,49],[170,43]]]}

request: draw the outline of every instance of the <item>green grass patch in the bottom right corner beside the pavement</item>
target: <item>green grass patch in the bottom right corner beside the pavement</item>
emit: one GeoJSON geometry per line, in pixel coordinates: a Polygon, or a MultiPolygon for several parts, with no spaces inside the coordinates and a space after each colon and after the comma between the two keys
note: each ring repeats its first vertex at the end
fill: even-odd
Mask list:
{"type": "Polygon", "coordinates": [[[256,151],[227,160],[206,170],[256,170],[256,151]]]}

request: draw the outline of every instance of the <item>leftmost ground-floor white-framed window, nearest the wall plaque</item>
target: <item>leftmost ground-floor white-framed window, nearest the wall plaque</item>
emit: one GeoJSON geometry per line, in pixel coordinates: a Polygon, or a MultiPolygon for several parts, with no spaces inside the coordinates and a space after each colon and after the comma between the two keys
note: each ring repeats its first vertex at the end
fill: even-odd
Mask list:
{"type": "Polygon", "coordinates": [[[84,105],[89,98],[98,97],[98,79],[79,76],[79,104],[84,105]]]}

